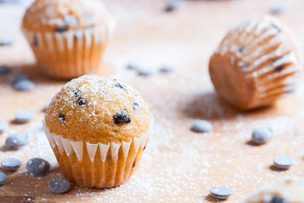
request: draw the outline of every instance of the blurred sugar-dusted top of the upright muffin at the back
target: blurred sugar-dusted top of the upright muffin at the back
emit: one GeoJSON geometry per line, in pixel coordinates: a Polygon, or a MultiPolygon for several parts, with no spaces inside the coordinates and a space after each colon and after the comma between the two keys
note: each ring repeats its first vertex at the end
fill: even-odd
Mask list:
{"type": "Polygon", "coordinates": [[[98,0],[35,0],[23,17],[31,31],[63,32],[106,22],[108,13],[98,0]]]}

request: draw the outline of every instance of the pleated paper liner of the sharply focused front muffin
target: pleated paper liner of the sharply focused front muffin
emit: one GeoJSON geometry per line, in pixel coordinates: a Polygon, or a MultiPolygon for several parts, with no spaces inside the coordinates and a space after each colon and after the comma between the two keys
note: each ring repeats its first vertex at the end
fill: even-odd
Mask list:
{"type": "Polygon", "coordinates": [[[134,137],[130,142],[110,142],[108,144],[90,144],[85,141],[64,139],[56,133],[51,133],[43,122],[43,130],[51,144],[64,176],[74,184],[83,187],[113,187],[127,181],[136,170],[134,164],[140,160],[143,149],[153,131],[154,118],[146,133],[134,137]],[[132,152],[131,149],[132,148],[132,152]],[[140,150],[139,150],[140,149],[140,150]],[[99,153],[99,155],[97,155],[99,153]],[[85,159],[85,154],[89,160],[85,159]],[[70,159],[77,157],[77,159],[70,159]],[[69,159],[64,160],[62,159],[69,159]],[[124,162],[123,166],[119,162],[124,162]],[[86,163],[86,167],[81,167],[86,163]],[[97,165],[97,169],[91,165],[97,165]],[[106,166],[108,165],[108,167],[106,166]],[[77,167],[75,167],[77,166],[77,167]],[[92,170],[92,171],[90,171],[92,170]]]}

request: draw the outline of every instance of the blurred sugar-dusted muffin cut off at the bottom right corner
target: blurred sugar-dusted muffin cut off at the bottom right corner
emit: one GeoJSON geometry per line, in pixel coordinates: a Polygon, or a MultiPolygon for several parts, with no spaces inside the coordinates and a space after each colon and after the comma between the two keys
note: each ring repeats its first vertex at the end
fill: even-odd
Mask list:
{"type": "Polygon", "coordinates": [[[304,203],[303,191],[304,179],[285,178],[261,188],[243,203],[304,203]]]}

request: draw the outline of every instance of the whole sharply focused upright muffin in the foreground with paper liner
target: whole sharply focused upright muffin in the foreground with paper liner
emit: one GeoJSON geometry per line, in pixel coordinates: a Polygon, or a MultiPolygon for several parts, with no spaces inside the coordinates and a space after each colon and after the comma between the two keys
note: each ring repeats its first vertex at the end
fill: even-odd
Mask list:
{"type": "Polygon", "coordinates": [[[113,187],[136,170],[153,127],[148,106],[122,81],[82,76],[52,99],[44,130],[65,178],[113,187]]]}

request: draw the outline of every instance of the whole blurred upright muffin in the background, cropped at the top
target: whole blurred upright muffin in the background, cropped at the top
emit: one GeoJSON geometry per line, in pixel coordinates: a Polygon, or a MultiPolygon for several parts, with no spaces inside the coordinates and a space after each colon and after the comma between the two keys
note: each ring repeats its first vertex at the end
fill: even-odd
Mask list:
{"type": "Polygon", "coordinates": [[[22,30],[41,69],[70,79],[99,67],[113,24],[98,0],[36,0],[22,30]]]}

